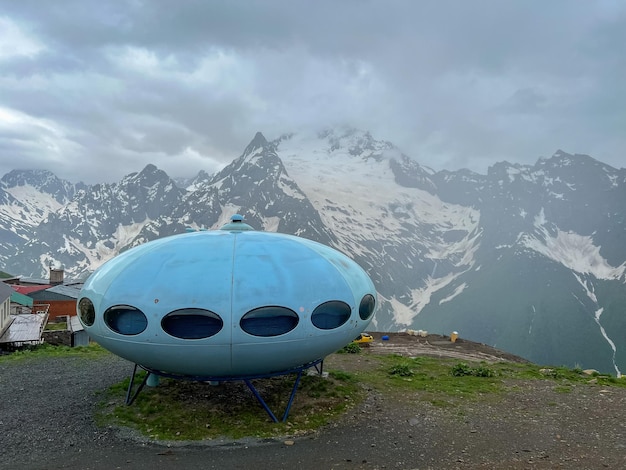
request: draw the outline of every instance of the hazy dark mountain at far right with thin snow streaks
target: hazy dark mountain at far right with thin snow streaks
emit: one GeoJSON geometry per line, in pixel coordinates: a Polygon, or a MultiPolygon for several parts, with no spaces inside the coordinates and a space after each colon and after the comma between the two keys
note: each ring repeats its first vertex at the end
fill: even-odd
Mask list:
{"type": "Polygon", "coordinates": [[[468,193],[480,209],[477,262],[416,321],[539,363],[621,374],[626,170],[558,151],[534,166],[499,163],[476,181],[480,190],[468,193]]]}

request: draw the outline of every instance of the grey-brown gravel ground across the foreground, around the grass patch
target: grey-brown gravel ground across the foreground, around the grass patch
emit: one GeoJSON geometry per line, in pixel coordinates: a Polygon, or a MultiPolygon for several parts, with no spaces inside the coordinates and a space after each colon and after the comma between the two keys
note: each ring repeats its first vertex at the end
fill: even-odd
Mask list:
{"type": "Polygon", "coordinates": [[[168,445],[93,421],[98,392],[131,369],[109,355],[0,364],[0,468],[626,468],[622,388],[515,382],[452,408],[371,392],[309,436],[168,445]]]}

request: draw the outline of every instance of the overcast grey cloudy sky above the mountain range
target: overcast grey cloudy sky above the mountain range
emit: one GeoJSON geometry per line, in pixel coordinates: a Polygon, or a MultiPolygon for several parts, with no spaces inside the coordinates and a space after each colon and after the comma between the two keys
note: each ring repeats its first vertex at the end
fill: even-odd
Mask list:
{"type": "Polygon", "coordinates": [[[0,175],[213,172],[350,125],[435,170],[626,166],[622,0],[0,0],[0,175]]]}

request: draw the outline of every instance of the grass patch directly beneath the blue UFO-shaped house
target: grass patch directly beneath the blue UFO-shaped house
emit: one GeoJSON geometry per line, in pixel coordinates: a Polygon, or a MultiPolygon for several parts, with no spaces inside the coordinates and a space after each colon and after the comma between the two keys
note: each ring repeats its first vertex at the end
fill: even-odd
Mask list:
{"type": "MultiPolygon", "coordinates": [[[[253,381],[279,420],[294,380],[294,375],[288,375],[253,381]]],[[[161,379],[158,387],[145,387],[127,406],[123,403],[128,383],[126,379],[114,385],[102,397],[98,423],[127,426],[159,440],[303,434],[329,423],[364,397],[358,381],[346,372],[331,371],[328,378],[303,376],[287,422],[274,423],[243,382],[215,386],[161,379]]]]}

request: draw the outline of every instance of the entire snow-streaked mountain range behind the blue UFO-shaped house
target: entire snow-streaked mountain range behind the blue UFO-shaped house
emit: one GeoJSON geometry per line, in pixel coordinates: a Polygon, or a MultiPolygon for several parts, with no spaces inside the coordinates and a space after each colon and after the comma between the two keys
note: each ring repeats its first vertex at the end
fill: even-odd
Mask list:
{"type": "Polygon", "coordinates": [[[219,173],[178,185],[153,165],[90,187],[13,173],[0,186],[3,271],[40,277],[58,261],[80,277],[242,213],[359,262],[379,293],[379,331],[456,330],[544,364],[626,370],[626,170],[588,156],[434,172],[342,129],[258,133],[219,173]]]}

